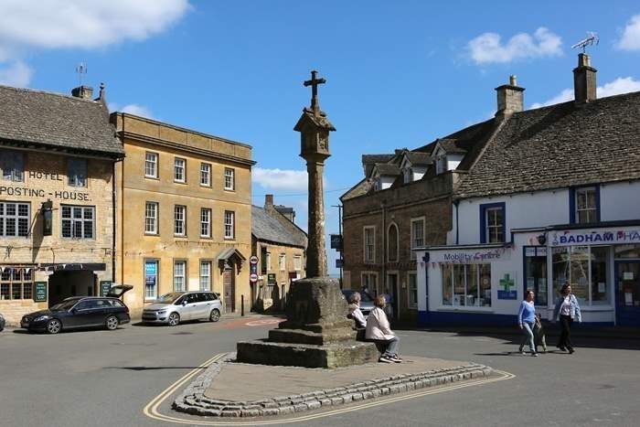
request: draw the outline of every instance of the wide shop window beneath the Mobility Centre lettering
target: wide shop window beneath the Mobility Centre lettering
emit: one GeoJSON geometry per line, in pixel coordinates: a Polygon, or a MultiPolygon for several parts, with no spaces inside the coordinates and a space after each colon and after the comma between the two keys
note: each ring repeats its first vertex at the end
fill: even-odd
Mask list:
{"type": "Polygon", "coordinates": [[[490,307],[491,264],[443,266],[443,305],[490,307]]]}

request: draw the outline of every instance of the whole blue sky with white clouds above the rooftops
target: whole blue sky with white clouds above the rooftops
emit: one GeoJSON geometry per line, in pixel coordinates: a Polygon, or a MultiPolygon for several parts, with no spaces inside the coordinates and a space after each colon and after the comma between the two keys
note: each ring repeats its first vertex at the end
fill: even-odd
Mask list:
{"type": "MultiPolygon", "coordinates": [[[[336,126],[325,164],[333,205],[363,178],[362,154],[417,148],[496,112],[517,75],[525,107],[572,99],[578,50],[598,96],[640,91],[636,1],[0,0],[0,84],[69,93],[106,84],[112,111],[251,144],[252,201],[296,210],[306,230],[306,169],[293,132],[317,69],[336,126]]],[[[336,272],[336,252],[327,250],[336,272]]]]}

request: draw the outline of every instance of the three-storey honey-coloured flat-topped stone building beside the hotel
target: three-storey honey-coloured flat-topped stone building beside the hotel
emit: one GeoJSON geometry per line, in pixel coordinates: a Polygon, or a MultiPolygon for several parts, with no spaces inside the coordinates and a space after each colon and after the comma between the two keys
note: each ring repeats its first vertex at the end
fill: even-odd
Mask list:
{"type": "Polygon", "coordinates": [[[123,112],[111,115],[127,157],[116,170],[116,280],[124,301],[211,290],[227,313],[248,301],[251,146],[123,112]]]}

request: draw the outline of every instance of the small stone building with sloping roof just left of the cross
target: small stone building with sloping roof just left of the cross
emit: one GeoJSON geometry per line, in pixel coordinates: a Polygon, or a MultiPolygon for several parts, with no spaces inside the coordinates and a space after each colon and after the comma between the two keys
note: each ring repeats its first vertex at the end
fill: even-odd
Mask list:
{"type": "Polygon", "coordinates": [[[293,222],[293,208],[273,205],[272,195],[265,197],[264,208],[251,211],[251,254],[258,257],[259,274],[251,301],[259,311],[282,310],[291,283],[306,276],[306,233],[293,222]]]}

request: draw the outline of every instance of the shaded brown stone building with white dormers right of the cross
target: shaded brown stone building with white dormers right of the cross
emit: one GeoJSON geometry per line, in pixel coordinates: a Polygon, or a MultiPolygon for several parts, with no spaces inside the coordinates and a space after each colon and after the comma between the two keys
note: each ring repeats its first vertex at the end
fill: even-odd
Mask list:
{"type": "Polygon", "coordinates": [[[362,155],[364,178],[340,197],[345,288],[386,292],[394,318],[417,319],[424,262],[413,250],[446,243],[453,191],[494,129],[489,121],[413,150],[362,155]]]}

